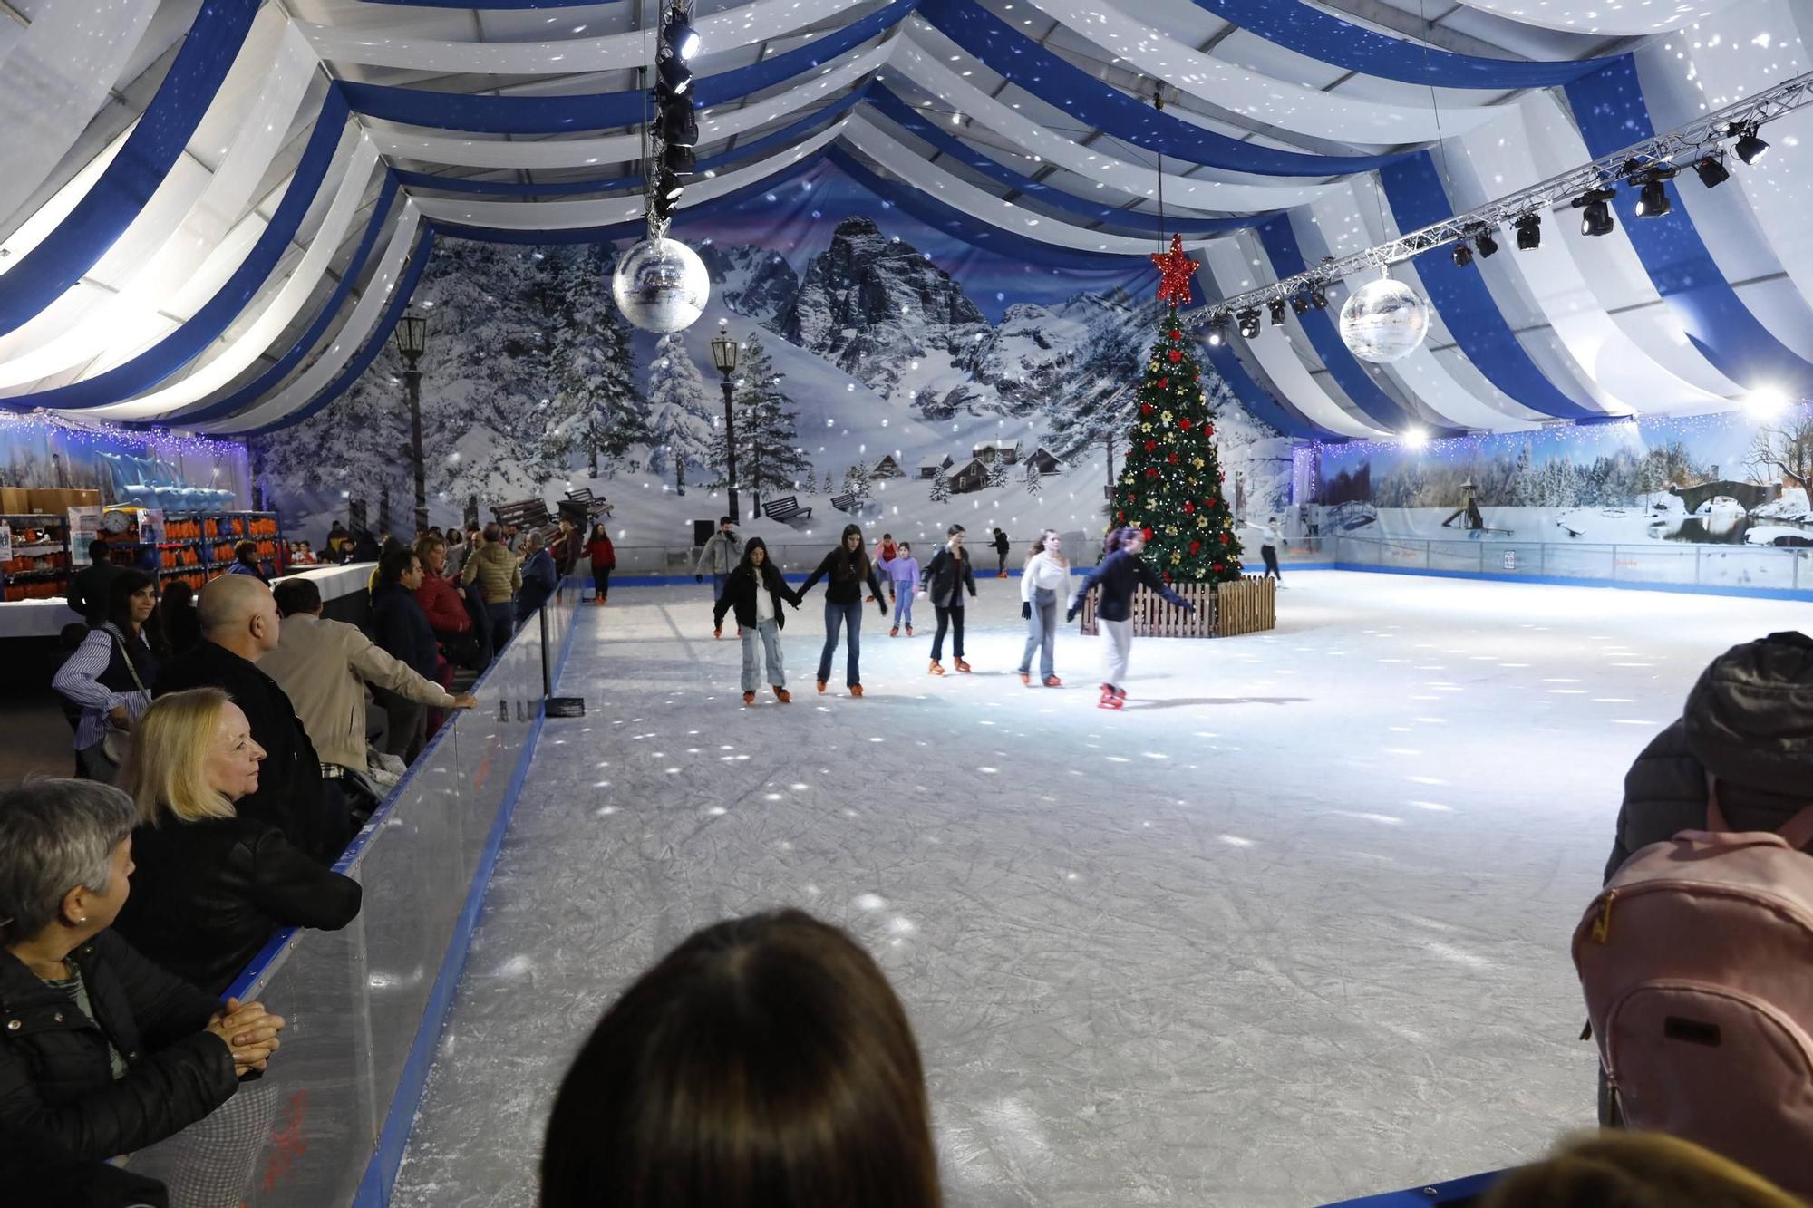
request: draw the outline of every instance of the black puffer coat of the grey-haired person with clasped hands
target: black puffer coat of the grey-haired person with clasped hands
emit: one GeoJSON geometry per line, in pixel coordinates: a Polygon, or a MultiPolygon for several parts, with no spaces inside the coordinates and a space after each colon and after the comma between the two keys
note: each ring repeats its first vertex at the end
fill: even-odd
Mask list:
{"type": "Polygon", "coordinates": [[[111,930],[73,956],[94,1019],[0,950],[0,1130],[103,1159],[163,1141],[232,1097],[232,1050],[203,1032],[219,1010],[212,996],[111,930]],[[125,1077],[112,1077],[109,1039],[125,1077]]]}

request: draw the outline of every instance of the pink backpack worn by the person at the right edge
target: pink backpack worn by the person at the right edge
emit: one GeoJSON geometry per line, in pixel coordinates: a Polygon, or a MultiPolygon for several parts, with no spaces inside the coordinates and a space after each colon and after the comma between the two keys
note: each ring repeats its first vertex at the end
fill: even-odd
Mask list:
{"type": "Polygon", "coordinates": [[[1599,1063],[1630,1128],[1813,1193],[1813,807],[1632,854],[1574,932],[1599,1063]]]}

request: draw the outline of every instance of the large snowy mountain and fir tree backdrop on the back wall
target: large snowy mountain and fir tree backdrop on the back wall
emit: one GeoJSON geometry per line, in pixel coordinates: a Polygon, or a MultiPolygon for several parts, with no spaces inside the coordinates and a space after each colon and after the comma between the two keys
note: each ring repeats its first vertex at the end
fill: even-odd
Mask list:
{"type": "MultiPolygon", "coordinates": [[[[919,223],[821,165],[674,238],[711,303],[687,332],[631,328],[611,301],[624,247],[439,239],[422,443],[430,513],[558,501],[589,488],[620,546],[687,546],[727,510],[722,377],[740,341],[736,488],[747,531],[814,544],[848,521],[876,537],[950,522],[1015,541],[1099,533],[1151,348],[1157,274],[1030,265],[919,223]],[[1111,441],[1110,441],[1111,437],[1111,441]],[[760,515],[756,508],[761,508],[760,515]],[[769,515],[772,508],[774,515],[769,515]]],[[[1247,415],[1204,359],[1229,501],[1264,521],[1291,502],[1291,444],[1247,415]]],[[[344,397],[256,437],[259,482],[301,528],[363,502],[404,524],[413,497],[402,363],[386,346],[344,397]]]]}

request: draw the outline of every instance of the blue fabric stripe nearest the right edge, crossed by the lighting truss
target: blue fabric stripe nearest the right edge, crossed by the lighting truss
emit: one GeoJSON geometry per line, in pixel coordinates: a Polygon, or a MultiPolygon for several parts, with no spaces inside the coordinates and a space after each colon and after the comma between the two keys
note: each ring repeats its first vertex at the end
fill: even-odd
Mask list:
{"type": "MultiPolygon", "coordinates": [[[[1568,102],[1594,158],[1655,134],[1637,82],[1637,63],[1628,54],[1570,83],[1568,102]]],[[[1688,339],[1721,374],[1748,388],[1813,392],[1813,365],[1750,312],[1706,250],[1673,185],[1664,189],[1675,207],[1663,218],[1637,218],[1634,189],[1621,189],[1614,205],[1655,292],[1668,299],[1688,339]]]]}

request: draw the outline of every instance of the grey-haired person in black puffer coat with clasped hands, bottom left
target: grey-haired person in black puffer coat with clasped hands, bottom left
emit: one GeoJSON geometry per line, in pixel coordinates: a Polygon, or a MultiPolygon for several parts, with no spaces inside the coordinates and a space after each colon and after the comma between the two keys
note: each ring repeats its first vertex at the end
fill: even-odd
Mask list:
{"type": "Polygon", "coordinates": [[[0,793],[0,1132],[103,1161],[205,1119],[263,1072],[283,1019],[225,1007],[109,927],[138,811],[112,785],[0,793]]]}

